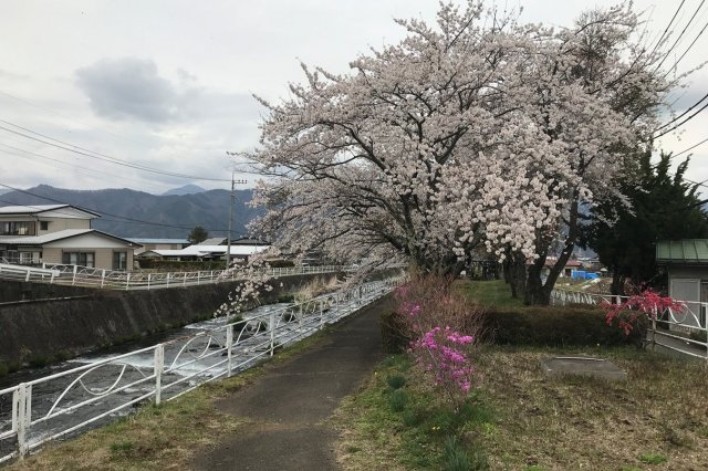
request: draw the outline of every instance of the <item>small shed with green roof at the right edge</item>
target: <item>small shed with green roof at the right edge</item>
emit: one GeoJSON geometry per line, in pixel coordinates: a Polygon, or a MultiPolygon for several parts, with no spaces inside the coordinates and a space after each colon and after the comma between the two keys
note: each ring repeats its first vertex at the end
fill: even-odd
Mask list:
{"type": "Polygon", "coordinates": [[[706,326],[708,306],[708,239],[656,242],[656,263],[668,274],[668,295],[686,302],[681,324],[706,326]]]}

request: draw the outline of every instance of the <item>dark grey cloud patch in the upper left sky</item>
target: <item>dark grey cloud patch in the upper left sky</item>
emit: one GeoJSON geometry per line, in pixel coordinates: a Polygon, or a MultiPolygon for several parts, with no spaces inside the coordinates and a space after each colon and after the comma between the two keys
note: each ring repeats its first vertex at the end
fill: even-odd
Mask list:
{"type": "Polygon", "coordinates": [[[178,113],[175,86],[158,75],[150,60],[104,59],[77,70],[76,83],[103,117],[164,123],[178,113]]]}

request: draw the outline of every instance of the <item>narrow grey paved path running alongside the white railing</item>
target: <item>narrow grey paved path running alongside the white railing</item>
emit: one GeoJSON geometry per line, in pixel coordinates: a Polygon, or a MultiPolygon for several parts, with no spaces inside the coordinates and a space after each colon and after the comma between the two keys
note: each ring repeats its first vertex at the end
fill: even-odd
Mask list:
{"type": "Polygon", "coordinates": [[[195,470],[335,470],[336,432],[324,420],[381,360],[379,300],[320,344],[267,371],[217,407],[254,422],[196,456],[195,470]]]}

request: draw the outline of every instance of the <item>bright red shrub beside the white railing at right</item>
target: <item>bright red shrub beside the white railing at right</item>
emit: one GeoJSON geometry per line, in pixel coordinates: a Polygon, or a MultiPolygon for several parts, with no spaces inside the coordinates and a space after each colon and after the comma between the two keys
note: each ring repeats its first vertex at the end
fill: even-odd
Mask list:
{"type": "Polygon", "coordinates": [[[620,304],[603,302],[602,306],[605,310],[607,325],[613,325],[617,321],[624,335],[629,335],[636,323],[643,317],[656,320],[658,313],[666,310],[681,311],[686,307],[683,302],[670,296],[662,296],[652,290],[632,295],[620,304]]]}

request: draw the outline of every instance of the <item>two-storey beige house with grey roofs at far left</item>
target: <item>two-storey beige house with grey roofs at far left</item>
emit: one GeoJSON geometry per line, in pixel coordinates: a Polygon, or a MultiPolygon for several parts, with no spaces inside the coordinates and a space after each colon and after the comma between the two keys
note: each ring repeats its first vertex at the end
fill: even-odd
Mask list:
{"type": "Polygon", "coordinates": [[[137,244],[91,228],[96,212],[71,205],[0,208],[0,262],[131,270],[137,244]]]}

